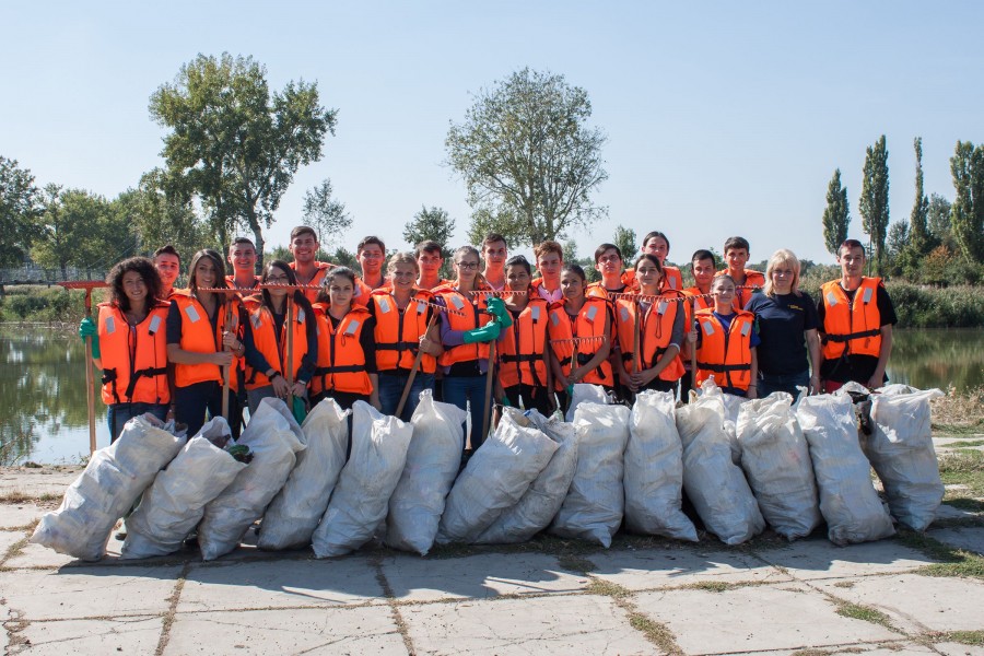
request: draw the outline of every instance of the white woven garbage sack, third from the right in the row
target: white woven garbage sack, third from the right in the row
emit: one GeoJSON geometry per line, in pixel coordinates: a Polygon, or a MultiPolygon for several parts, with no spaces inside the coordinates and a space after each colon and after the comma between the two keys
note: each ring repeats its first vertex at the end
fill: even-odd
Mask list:
{"type": "Polygon", "coordinates": [[[810,447],[784,391],[750,400],[738,411],[741,468],[765,522],[787,540],[820,525],[810,447]]]}

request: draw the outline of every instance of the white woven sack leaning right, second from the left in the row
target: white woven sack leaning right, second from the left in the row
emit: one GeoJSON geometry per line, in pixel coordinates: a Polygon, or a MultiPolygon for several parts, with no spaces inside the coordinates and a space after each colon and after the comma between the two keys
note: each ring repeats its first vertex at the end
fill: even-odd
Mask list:
{"type": "Polygon", "coordinates": [[[167,469],[157,475],[127,517],[121,558],[151,558],[179,550],[204,514],[204,505],[219,496],[246,467],[215,446],[230,436],[221,417],[209,420],[167,469]]]}

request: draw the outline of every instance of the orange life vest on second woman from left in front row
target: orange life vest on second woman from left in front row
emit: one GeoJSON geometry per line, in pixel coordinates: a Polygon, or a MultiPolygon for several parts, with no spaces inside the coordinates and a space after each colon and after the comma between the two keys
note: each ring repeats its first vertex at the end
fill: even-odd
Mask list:
{"type": "MultiPolygon", "coordinates": [[[[175,294],[172,303],[178,306],[181,315],[181,341],[183,351],[191,351],[195,353],[218,353],[222,350],[222,333],[225,332],[225,314],[226,306],[219,305],[215,312],[219,313],[219,321],[215,330],[212,330],[212,323],[209,321],[209,315],[204,307],[198,302],[198,298],[189,295],[190,293],[175,294]]],[[[232,320],[230,330],[241,336],[242,326],[239,326],[239,307],[238,296],[230,296],[226,303],[232,303],[232,320]]],[[[238,389],[238,378],[235,371],[242,366],[241,358],[233,358],[230,375],[230,388],[238,389]]],[[[218,364],[175,364],[174,365],[174,383],[178,387],[188,387],[196,383],[204,383],[206,380],[215,380],[222,383],[222,367],[218,364]]]]}

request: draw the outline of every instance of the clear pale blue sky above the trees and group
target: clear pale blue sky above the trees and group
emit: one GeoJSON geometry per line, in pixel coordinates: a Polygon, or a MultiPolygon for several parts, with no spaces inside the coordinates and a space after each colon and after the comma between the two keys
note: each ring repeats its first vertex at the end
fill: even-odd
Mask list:
{"type": "MultiPolygon", "coordinates": [[[[317,82],[338,109],[324,157],[284,195],[268,247],[301,223],[304,192],[329,178],[353,218],[336,245],[376,234],[403,248],[422,206],[471,214],[444,140],[473,94],[524,67],[587,91],[607,134],[608,220],[581,227],[578,255],[613,238],[670,238],[672,261],[742,235],[751,259],[777,248],[832,262],[821,215],[842,173],[850,236],[865,149],[885,134],[890,215],[914,200],[913,139],[926,192],[953,197],[958,140],[984,141],[984,3],[21,2],[3,10],[0,155],[113,198],[163,164],[151,94],[198,54],[253,56],[271,89],[317,82]]],[[[528,253],[528,249],[526,250],[528,253]]]]}

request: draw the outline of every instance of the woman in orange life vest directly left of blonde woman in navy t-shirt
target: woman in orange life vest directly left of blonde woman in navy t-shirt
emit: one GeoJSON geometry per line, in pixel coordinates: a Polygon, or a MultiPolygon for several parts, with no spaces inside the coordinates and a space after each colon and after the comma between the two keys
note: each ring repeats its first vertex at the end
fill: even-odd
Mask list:
{"type": "Polygon", "coordinates": [[[722,391],[735,396],[757,398],[758,361],[754,315],[734,308],[735,280],[719,273],[711,283],[714,309],[696,313],[700,330],[691,330],[688,341],[696,348],[696,384],[714,376],[722,391]]]}

